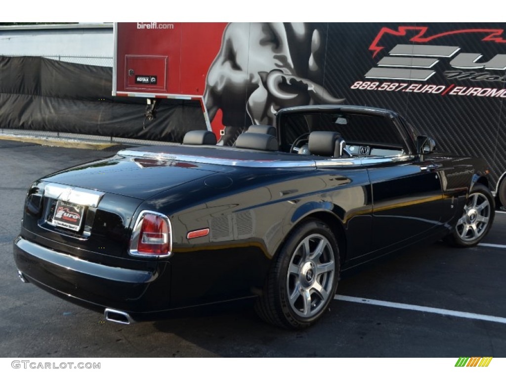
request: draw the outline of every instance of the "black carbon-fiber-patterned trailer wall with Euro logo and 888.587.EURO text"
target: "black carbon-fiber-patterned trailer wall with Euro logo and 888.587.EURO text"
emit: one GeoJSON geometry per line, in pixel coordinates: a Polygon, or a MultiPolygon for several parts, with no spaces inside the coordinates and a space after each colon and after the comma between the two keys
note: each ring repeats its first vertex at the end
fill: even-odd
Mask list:
{"type": "MultiPolygon", "coordinates": [[[[500,94],[500,90],[505,89],[506,64],[487,69],[478,67],[478,63],[489,62],[489,66],[494,66],[496,62],[500,65],[504,63],[502,60],[491,61],[498,54],[506,54],[506,40],[503,40],[506,39],[506,31],[501,33],[501,27],[506,25],[320,24],[319,29],[326,31],[323,87],[334,97],[345,98],[345,104],[377,106],[398,111],[420,134],[434,137],[439,151],[485,158],[491,166],[492,178],[496,181],[506,168],[506,112],[503,108],[506,94],[504,97],[491,95],[500,94]],[[406,28],[402,29],[402,26],[406,28]],[[377,52],[369,50],[375,41],[375,47],[383,49],[377,52]],[[408,51],[412,47],[413,52],[419,46],[456,47],[458,51],[451,57],[426,57],[425,59],[437,62],[432,67],[423,68],[434,72],[425,81],[366,78],[366,73],[371,69],[382,67],[378,65],[382,59],[388,58],[395,63],[400,56],[390,52],[398,45],[408,45],[408,51]],[[463,53],[475,54],[459,57],[459,54],[463,53]],[[477,67],[455,68],[450,65],[450,62],[453,62],[454,66],[473,66],[474,58],[480,55],[482,57],[474,64],[477,67]],[[392,86],[393,83],[398,85],[392,86]],[[401,88],[401,84],[405,86],[401,88]],[[416,85],[420,87],[415,87],[416,85]],[[423,90],[426,85],[433,85],[436,89],[430,92],[431,88],[426,87],[426,92],[415,91],[423,90]],[[381,90],[382,86],[388,90],[381,90]],[[457,92],[457,87],[464,89],[457,92]],[[481,92],[478,92],[478,89],[482,89],[481,92]],[[494,93],[485,89],[496,91],[494,93]],[[486,96],[487,94],[489,96],[486,96]]],[[[413,60],[419,58],[414,55],[403,57],[413,60]]],[[[392,66],[384,67],[392,69],[392,66]]],[[[415,71],[421,68],[415,68],[413,64],[409,69],[415,71]]]]}

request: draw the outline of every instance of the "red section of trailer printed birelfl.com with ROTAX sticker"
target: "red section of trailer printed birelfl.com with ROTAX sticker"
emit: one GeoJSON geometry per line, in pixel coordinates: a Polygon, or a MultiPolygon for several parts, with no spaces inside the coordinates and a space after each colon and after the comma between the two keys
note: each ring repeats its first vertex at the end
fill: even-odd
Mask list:
{"type": "MultiPolygon", "coordinates": [[[[203,101],[205,78],[226,23],[121,22],[114,24],[113,96],[203,101]]],[[[220,134],[220,126],[215,133],[220,134]]],[[[223,132],[222,132],[223,133],[223,132]]]]}

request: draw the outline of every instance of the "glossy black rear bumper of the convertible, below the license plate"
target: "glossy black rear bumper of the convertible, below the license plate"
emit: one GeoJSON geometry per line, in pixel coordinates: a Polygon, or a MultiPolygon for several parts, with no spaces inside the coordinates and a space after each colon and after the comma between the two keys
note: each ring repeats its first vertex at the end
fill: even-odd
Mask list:
{"type": "Polygon", "coordinates": [[[18,270],[31,283],[94,310],[155,313],[170,308],[170,264],[154,271],[112,267],[35,244],[14,241],[18,270]]]}

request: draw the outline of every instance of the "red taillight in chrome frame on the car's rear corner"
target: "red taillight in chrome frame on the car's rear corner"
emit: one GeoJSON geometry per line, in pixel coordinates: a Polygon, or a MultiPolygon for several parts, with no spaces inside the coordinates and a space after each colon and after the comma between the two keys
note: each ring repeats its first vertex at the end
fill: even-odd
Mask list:
{"type": "Polygon", "coordinates": [[[171,225],[165,215],[144,211],[132,235],[130,254],[168,256],[171,254],[171,225]]]}

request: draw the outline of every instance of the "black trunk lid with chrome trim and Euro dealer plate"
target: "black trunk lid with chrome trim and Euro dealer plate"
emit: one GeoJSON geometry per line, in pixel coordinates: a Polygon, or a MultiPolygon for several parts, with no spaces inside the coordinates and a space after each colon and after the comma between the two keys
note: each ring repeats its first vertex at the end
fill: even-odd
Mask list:
{"type": "Polygon", "coordinates": [[[140,260],[128,251],[141,203],[213,173],[189,162],[121,156],[66,169],[32,184],[21,235],[85,260],[122,258],[126,268],[137,268],[140,260]]]}

